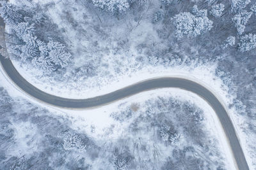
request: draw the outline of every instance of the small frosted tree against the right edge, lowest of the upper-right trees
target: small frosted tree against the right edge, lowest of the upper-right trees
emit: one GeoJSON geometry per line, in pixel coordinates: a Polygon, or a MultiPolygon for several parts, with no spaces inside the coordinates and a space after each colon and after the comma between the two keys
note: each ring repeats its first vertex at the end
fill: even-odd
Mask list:
{"type": "Polygon", "coordinates": [[[256,48],[256,34],[246,34],[241,36],[238,48],[241,52],[246,52],[256,48]]]}

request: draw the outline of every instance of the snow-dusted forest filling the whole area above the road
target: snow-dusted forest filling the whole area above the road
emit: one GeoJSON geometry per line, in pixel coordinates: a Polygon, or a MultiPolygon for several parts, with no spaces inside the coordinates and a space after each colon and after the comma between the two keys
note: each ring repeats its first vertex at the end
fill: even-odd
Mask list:
{"type": "MultiPolygon", "coordinates": [[[[26,70],[31,83],[36,80],[59,96],[60,89],[86,96],[92,89],[104,89],[143,71],[216,66],[213,79],[220,78],[223,89],[227,87],[227,98],[232,100],[228,108],[235,110],[230,117],[246,137],[244,148],[256,166],[254,0],[2,0],[0,4],[8,57],[17,69],[26,70]]],[[[164,139],[173,140],[168,135],[164,139]]]]}

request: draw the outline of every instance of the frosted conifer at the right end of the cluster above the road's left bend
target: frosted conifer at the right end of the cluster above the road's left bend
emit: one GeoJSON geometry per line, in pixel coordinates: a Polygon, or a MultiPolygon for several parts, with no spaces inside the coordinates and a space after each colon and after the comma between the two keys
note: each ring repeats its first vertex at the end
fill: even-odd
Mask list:
{"type": "Polygon", "coordinates": [[[72,55],[68,52],[66,46],[58,41],[49,41],[47,48],[49,50],[49,57],[56,66],[61,68],[67,67],[68,63],[72,60],[72,55]]]}

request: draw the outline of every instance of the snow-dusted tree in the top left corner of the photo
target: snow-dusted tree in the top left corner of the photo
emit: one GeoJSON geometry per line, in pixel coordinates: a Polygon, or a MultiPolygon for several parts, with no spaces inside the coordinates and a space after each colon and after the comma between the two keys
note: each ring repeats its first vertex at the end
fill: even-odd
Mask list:
{"type": "Polygon", "coordinates": [[[0,15],[8,24],[17,24],[23,20],[23,17],[17,11],[16,6],[7,3],[6,1],[0,1],[0,15]]]}

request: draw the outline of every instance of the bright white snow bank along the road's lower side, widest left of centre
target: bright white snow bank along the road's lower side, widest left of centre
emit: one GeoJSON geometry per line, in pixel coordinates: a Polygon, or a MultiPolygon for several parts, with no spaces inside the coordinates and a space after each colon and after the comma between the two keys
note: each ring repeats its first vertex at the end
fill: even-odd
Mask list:
{"type": "Polygon", "coordinates": [[[102,136],[103,139],[118,139],[122,135],[122,129],[127,126],[127,123],[118,124],[110,117],[113,111],[122,110],[126,106],[130,106],[132,103],[139,103],[140,105],[148,99],[157,99],[157,97],[173,97],[179,101],[189,101],[189,103],[195,104],[199,108],[204,110],[204,116],[206,118],[205,128],[211,131],[211,136],[216,136],[216,139],[220,140],[220,150],[221,155],[225,155],[228,163],[228,169],[235,169],[234,159],[232,157],[232,152],[227,142],[227,138],[223,129],[221,128],[220,120],[212,110],[211,106],[204,101],[201,97],[181,89],[158,89],[151,90],[148,92],[141,92],[131,97],[127,97],[122,101],[109,104],[108,106],[102,106],[100,108],[95,108],[92,110],[68,110],[68,115],[74,117],[73,125],[76,129],[83,129],[86,134],[89,134],[93,138],[99,138],[102,136]],[[95,132],[91,131],[91,125],[95,127],[95,132]],[[113,134],[109,136],[104,136],[107,129],[114,125],[113,134]]]}

